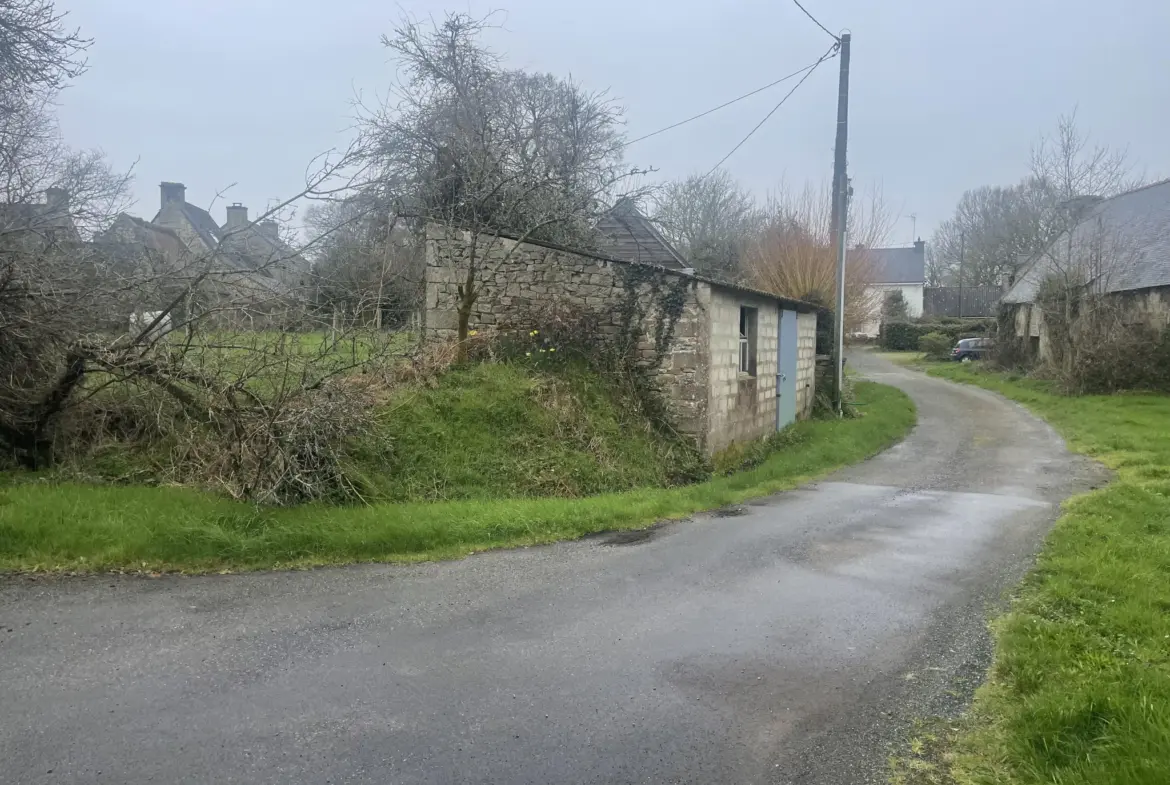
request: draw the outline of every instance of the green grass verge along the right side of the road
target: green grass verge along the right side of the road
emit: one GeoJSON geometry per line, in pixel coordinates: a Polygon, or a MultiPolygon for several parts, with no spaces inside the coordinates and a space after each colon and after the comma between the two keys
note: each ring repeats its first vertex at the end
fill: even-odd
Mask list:
{"type": "Polygon", "coordinates": [[[1116,478],[1065,505],[994,622],[991,679],[950,772],[908,781],[1170,783],[1170,397],[1067,398],[970,366],[929,372],[1024,404],[1116,478]]]}

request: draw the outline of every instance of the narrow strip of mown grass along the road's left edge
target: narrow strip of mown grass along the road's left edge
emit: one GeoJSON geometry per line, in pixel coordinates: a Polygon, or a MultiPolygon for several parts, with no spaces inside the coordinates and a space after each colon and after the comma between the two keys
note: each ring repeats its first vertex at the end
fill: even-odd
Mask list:
{"type": "Polygon", "coordinates": [[[629,529],[800,484],[901,439],[914,405],[859,384],[866,416],[794,426],[760,466],[694,486],[586,498],[257,509],[176,488],[0,489],[0,570],[248,570],[408,562],[629,529]]]}

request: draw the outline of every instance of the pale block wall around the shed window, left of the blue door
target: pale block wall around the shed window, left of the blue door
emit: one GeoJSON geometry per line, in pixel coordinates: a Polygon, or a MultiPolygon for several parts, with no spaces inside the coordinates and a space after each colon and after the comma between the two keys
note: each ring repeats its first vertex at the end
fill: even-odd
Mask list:
{"type": "Polygon", "coordinates": [[[776,431],[778,321],[779,308],[775,299],[713,287],[708,453],[776,431]],[[739,371],[741,307],[757,309],[755,376],[739,371]]]}

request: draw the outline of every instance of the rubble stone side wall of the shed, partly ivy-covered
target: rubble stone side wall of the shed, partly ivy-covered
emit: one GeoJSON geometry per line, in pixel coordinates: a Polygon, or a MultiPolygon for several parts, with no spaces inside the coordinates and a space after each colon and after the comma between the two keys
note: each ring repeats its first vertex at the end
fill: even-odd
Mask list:
{"type": "MultiPolygon", "coordinates": [[[[428,227],[424,315],[428,336],[457,335],[457,290],[472,255],[468,233],[428,227]]],[[[505,237],[481,235],[474,255],[481,294],[472,310],[472,329],[526,324],[532,314],[555,302],[587,309],[599,317],[604,335],[635,342],[636,361],[655,373],[676,426],[702,442],[710,284],[669,270],[505,237]],[[667,305],[674,298],[682,299],[676,319],[667,305]],[[631,314],[633,325],[627,330],[624,323],[631,314]],[[659,346],[660,342],[665,345],[659,346]]]]}

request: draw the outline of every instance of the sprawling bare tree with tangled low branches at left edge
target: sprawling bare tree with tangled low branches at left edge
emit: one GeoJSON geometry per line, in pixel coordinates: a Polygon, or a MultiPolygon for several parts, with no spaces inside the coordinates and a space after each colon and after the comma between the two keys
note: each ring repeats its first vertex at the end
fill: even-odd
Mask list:
{"type": "Polygon", "coordinates": [[[121,214],[129,174],[62,139],[53,99],[87,44],[50,2],[0,2],[0,460],[165,439],[160,480],[352,497],[340,449],[369,422],[365,380],[401,350],[372,330],[315,333],[311,298],[278,275],[311,246],[269,220],[345,188],[356,159],[319,158],[300,194],[193,249],[121,214]]]}

